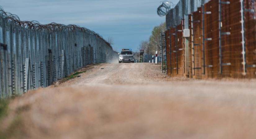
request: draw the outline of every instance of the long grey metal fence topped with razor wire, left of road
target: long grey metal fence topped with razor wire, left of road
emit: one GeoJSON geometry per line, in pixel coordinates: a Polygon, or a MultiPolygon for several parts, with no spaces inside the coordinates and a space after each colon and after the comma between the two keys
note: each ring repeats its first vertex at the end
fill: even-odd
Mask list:
{"type": "Polygon", "coordinates": [[[0,7],[0,99],[50,86],[92,63],[118,61],[97,33],[76,25],[20,21],[0,7]]]}

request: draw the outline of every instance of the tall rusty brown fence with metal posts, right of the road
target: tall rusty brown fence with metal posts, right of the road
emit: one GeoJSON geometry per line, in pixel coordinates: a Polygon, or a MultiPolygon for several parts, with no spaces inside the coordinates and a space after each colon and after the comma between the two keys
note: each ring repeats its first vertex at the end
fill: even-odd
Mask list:
{"type": "Polygon", "coordinates": [[[167,73],[256,78],[256,1],[199,2],[203,4],[193,10],[198,6],[194,0],[181,0],[166,15],[167,73]]]}

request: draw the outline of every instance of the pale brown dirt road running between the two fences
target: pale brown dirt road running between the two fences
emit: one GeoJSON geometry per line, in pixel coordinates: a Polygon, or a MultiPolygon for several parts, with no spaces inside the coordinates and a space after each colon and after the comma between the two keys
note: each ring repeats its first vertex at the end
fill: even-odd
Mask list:
{"type": "Polygon", "coordinates": [[[151,63],[80,75],[12,100],[0,129],[22,139],[255,138],[256,80],[169,78],[151,63]]]}

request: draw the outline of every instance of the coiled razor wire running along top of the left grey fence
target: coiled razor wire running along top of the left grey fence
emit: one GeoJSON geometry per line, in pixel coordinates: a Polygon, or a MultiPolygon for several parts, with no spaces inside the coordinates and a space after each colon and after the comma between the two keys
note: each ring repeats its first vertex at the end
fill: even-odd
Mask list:
{"type": "Polygon", "coordinates": [[[110,47],[110,43],[108,43],[105,39],[103,39],[102,36],[100,36],[98,33],[89,30],[86,27],[80,27],[79,25],[64,25],[64,24],[59,24],[59,23],[49,23],[49,24],[41,24],[38,21],[21,21],[19,16],[11,14],[9,12],[4,11],[2,6],[0,6],[0,16],[3,19],[7,19],[7,22],[12,22],[15,25],[28,28],[28,29],[33,29],[33,30],[39,30],[39,31],[47,31],[47,32],[55,32],[55,31],[81,31],[81,32],[86,32],[92,35],[97,36],[101,40],[103,40],[106,44],[108,44],[110,47]]]}

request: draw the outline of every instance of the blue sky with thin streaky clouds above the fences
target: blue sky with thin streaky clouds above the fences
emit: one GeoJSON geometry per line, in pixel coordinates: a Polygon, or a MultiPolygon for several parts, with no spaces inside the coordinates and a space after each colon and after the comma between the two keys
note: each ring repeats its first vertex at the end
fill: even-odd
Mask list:
{"type": "MultiPolygon", "coordinates": [[[[157,15],[162,0],[0,0],[7,12],[20,20],[41,24],[77,24],[114,39],[114,50],[137,51],[152,29],[165,22],[157,15]]],[[[172,1],[174,4],[178,0],[172,1]]]]}

